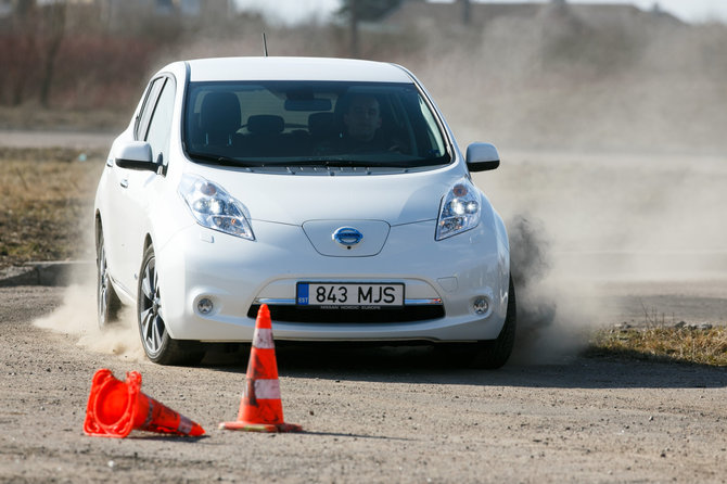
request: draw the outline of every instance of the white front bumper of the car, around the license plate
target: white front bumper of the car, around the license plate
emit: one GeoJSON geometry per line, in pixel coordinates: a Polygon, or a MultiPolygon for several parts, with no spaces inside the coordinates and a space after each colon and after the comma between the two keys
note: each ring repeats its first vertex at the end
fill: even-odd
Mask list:
{"type": "Polygon", "coordinates": [[[298,226],[255,220],[254,230],[252,242],[195,225],[158,247],[163,316],[173,337],[250,342],[263,303],[290,309],[285,321],[271,311],[277,340],[479,341],[497,337],[505,322],[509,254],[483,224],[438,242],[433,220],[395,226],[383,250],[365,257],[321,255],[298,226]],[[353,322],[342,313],[296,321],[298,281],[404,282],[405,307],[423,316],[353,322]],[[489,309],[477,315],[472,303],[482,296],[489,309]],[[203,297],[213,302],[206,315],[196,309],[203,297]],[[426,305],[442,310],[422,310],[426,305]]]}

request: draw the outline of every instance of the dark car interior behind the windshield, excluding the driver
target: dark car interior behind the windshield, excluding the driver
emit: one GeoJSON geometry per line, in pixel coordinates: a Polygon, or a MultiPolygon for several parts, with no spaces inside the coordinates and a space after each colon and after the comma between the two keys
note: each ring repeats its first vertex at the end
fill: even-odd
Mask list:
{"type": "MultiPolygon", "coordinates": [[[[193,88],[187,106],[187,149],[232,158],[319,156],[322,144],[342,137],[347,102],[353,94],[367,92],[362,89],[302,95],[299,90],[246,85],[193,88]]],[[[418,94],[381,88],[369,92],[379,101],[381,136],[392,145],[395,140],[397,154],[408,158],[444,154],[441,135],[432,132],[433,123],[422,114],[418,94]]]]}

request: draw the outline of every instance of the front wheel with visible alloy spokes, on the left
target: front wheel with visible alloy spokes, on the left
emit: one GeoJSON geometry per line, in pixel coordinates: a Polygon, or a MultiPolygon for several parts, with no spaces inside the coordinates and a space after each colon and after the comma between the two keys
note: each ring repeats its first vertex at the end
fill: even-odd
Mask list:
{"type": "Polygon", "coordinates": [[[164,322],[156,257],[151,245],[144,251],[137,294],[139,335],[146,357],[160,365],[196,365],[204,357],[200,342],[169,336],[164,322]]]}

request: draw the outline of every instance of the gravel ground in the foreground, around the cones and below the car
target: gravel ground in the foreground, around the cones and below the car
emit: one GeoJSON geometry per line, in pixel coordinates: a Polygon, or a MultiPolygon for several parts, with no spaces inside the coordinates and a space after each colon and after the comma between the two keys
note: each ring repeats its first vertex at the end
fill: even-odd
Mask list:
{"type": "Polygon", "coordinates": [[[0,289],[2,482],[727,481],[727,372],[572,358],[447,368],[428,349],[279,347],[285,420],[301,434],[217,430],[234,420],[245,355],[169,368],[78,346],[31,321],[63,289],[0,289]],[[82,432],[91,377],[138,370],[142,390],[203,438],[82,432]]]}

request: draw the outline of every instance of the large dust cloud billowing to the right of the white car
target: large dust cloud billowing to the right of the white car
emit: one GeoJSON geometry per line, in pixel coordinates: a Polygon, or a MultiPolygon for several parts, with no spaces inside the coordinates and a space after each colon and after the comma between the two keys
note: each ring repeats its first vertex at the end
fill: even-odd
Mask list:
{"type": "Polygon", "coordinates": [[[621,322],[613,288],[683,294],[727,275],[727,29],[576,13],[533,21],[523,38],[495,23],[446,61],[476,79],[457,93],[479,102],[439,103],[462,145],[499,148],[500,168],[474,179],[508,226],[514,359],[528,362],[575,355],[589,330],[621,322]]]}

